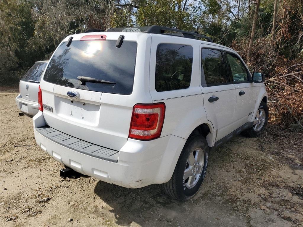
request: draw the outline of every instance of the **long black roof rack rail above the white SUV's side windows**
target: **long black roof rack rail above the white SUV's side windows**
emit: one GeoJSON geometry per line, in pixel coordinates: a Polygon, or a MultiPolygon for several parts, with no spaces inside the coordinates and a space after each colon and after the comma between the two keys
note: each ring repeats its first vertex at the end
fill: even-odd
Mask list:
{"type": "Polygon", "coordinates": [[[200,35],[197,31],[183,31],[175,28],[168,28],[159,25],[145,26],[145,27],[133,27],[133,28],[108,28],[105,31],[127,31],[127,32],[146,32],[154,34],[163,34],[163,35],[174,35],[174,33],[165,33],[165,31],[173,31],[181,33],[185,38],[196,39],[196,37],[204,38],[208,42],[213,43],[212,39],[205,35],[200,35]]]}

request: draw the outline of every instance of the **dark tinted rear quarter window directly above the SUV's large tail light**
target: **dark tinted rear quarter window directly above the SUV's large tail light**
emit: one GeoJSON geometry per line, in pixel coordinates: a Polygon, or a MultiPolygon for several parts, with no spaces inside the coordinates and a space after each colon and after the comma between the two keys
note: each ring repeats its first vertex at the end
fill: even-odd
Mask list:
{"type": "Polygon", "coordinates": [[[156,56],[156,91],[188,88],[191,68],[191,46],[159,44],[156,56]]]}

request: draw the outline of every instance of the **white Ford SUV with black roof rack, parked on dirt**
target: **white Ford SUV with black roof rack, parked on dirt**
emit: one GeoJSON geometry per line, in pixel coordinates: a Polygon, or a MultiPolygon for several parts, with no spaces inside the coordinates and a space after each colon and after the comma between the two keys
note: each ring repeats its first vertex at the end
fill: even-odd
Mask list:
{"type": "Polygon", "coordinates": [[[76,34],[44,72],[35,138],[78,173],[128,188],[163,184],[187,200],[211,150],[264,130],[262,82],[237,52],[196,33],[154,25],[76,34]]]}

